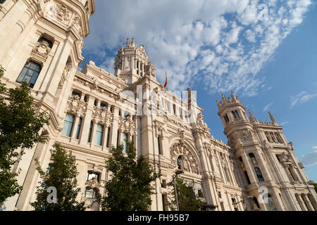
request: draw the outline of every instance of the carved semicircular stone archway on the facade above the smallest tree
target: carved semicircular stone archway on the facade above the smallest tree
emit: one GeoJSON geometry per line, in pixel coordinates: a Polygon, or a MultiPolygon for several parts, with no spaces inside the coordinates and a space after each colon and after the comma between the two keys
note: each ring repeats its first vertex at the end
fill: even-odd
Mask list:
{"type": "Polygon", "coordinates": [[[170,160],[175,167],[178,167],[180,157],[180,167],[185,172],[200,174],[199,160],[193,151],[185,144],[174,143],[170,147],[170,160]]]}

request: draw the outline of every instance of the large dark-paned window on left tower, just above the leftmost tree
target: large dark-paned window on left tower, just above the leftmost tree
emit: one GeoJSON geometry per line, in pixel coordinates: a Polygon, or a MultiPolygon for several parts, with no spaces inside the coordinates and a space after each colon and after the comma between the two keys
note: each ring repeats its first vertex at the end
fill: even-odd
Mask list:
{"type": "Polygon", "coordinates": [[[41,71],[41,69],[41,65],[33,61],[29,61],[25,64],[23,70],[20,72],[20,75],[16,82],[26,82],[32,89],[35,82],[37,81],[37,77],[39,76],[39,72],[41,71]]]}

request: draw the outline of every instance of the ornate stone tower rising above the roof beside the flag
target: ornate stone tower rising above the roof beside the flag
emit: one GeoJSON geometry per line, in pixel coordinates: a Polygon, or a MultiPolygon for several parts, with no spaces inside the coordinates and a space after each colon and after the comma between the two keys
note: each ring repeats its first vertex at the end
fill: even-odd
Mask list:
{"type": "Polygon", "coordinates": [[[120,46],[115,59],[115,75],[127,84],[136,82],[140,77],[152,75],[155,77],[154,65],[149,62],[144,45],[135,46],[135,39],[127,39],[125,48],[120,46]]]}

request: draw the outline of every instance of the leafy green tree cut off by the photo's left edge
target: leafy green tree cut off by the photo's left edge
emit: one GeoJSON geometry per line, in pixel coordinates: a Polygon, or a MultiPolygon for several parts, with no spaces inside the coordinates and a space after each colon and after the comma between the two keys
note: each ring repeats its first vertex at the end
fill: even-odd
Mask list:
{"type": "MultiPolygon", "coordinates": [[[[0,65],[0,78],[4,71],[0,65]]],[[[18,148],[32,148],[43,142],[39,130],[49,123],[46,113],[37,112],[33,100],[26,83],[7,89],[0,82],[0,205],[22,189],[16,179],[18,172],[11,171],[18,156],[23,155],[18,148]]]]}

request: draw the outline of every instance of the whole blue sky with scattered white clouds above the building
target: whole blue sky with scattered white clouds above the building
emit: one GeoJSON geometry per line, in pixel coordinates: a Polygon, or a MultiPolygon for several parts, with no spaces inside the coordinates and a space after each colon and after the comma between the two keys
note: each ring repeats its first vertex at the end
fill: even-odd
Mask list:
{"type": "Polygon", "coordinates": [[[89,60],[113,73],[135,37],[162,84],[197,91],[211,135],[227,143],[216,99],[234,91],[260,121],[268,111],[317,182],[317,2],[313,0],[96,0],[84,40],[89,60]]]}

